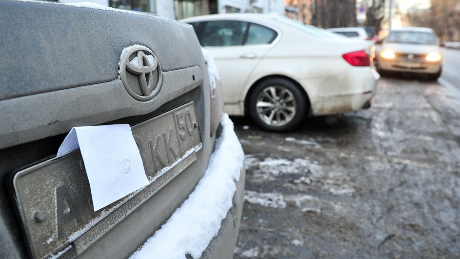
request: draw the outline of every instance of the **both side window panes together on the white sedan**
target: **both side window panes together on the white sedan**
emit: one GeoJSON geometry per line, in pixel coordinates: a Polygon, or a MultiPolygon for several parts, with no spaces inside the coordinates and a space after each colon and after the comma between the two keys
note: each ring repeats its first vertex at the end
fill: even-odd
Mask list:
{"type": "Polygon", "coordinates": [[[266,26],[241,20],[190,23],[203,47],[270,44],[278,33],[266,26]]]}

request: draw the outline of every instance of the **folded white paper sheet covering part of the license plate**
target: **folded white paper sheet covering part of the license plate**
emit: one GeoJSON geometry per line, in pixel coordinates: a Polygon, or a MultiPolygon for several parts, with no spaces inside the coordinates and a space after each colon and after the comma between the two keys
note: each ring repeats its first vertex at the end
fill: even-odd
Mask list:
{"type": "Polygon", "coordinates": [[[149,184],[129,124],[74,127],[58,156],[79,147],[94,211],[149,184]]]}

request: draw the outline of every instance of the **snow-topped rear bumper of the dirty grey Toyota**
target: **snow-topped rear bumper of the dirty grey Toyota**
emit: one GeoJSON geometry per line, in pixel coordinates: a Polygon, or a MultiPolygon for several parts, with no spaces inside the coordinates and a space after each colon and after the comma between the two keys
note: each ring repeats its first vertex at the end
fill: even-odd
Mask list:
{"type": "Polygon", "coordinates": [[[195,190],[131,258],[232,258],[244,193],[244,154],[228,116],[195,190]],[[223,166],[225,165],[225,166],[223,166]]]}

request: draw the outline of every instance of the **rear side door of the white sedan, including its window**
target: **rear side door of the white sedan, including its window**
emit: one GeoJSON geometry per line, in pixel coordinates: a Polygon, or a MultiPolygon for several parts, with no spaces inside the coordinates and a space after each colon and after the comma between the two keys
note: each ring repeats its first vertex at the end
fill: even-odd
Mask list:
{"type": "Polygon", "coordinates": [[[191,23],[201,46],[219,69],[224,102],[238,107],[246,81],[260,59],[276,43],[274,28],[244,20],[210,20],[191,23]]]}

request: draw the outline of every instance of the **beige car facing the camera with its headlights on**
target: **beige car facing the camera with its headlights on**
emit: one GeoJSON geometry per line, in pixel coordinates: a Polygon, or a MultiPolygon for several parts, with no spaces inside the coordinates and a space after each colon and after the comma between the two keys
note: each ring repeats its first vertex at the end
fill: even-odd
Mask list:
{"type": "Polygon", "coordinates": [[[404,72],[440,77],[442,56],[435,32],[430,28],[393,29],[383,40],[377,69],[381,73],[404,72]]]}

